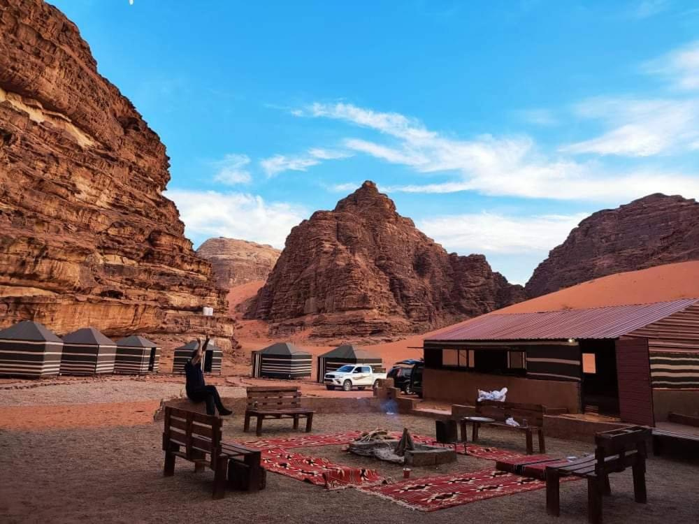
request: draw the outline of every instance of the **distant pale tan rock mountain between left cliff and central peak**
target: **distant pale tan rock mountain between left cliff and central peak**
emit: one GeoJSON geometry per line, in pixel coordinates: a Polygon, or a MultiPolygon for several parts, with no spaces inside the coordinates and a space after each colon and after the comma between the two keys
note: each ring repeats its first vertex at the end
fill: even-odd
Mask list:
{"type": "Polygon", "coordinates": [[[266,280],[281,251],[271,245],[235,238],[210,238],[196,253],[210,261],[216,282],[222,289],[266,280]]]}

